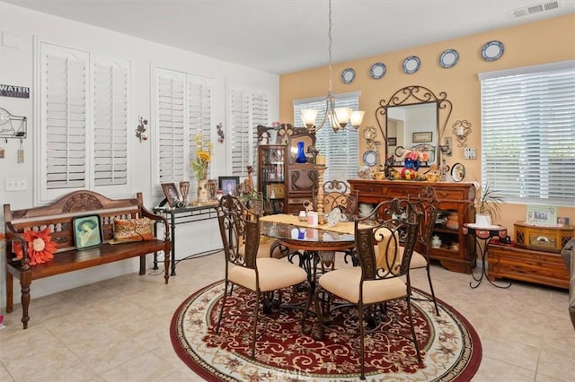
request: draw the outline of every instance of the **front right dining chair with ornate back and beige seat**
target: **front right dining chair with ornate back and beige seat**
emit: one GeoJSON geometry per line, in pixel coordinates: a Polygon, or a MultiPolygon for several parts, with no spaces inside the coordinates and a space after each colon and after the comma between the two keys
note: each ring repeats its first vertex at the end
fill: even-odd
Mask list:
{"type": "MultiPolygon", "coordinates": [[[[339,308],[335,301],[343,300],[358,310],[357,331],[360,339],[359,360],[361,379],[365,379],[366,335],[383,330],[381,317],[374,312],[393,300],[404,300],[411,333],[401,335],[411,340],[421,362],[420,348],[411,313],[411,284],[409,277],[411,254],[417,240],[420,213],[406,200],[382,202],[363,219],[355,221],[355,241],[359,266],[323,273],[314,291],[314,307],[319,318],[319,331],[314,338],[321,340],[330,328],[326,315],[339,308]],[[403,242],[400,243],[400,240],[403,242]],[[400,245],[401,244],[401,245],[400,245]],[[402,249],[403,246],[403,249],[402,249]],[[371,317],[367,319],[367,313],[371,317]]],[[[308,307],[309,308],[309,305],[308,307]]],[[[307,310],[304,317],[307,317],[307,310]]],[[[394,317],[391,317],[394,319],[394,317]]],[[[311,328],[302,326],[304,333],[311,328]]],[[[353,329],[353,328],[349,328],[353,329]]],[[[346,330],[349,334],[349,331],[346,330]]],[[[377,343],[373,343],[376,346],[377,343]]]]}

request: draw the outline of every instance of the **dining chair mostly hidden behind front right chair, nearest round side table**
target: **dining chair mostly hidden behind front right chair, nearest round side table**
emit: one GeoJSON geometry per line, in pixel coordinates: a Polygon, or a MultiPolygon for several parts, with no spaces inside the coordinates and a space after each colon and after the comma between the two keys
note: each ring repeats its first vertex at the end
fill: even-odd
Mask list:
{"type": "Polygon", "coordinates": [[[435,298],[433,282],[431,282],[431,273],[429,270],[429,247],[431,245],[431,235],[438,217],[439,201],[434,187],[423,186],[415,194],[408,195],[407,200],[411,202],[415,210],[421,214],[420,229],[418,232],[419,250],[414,250],[411,256],[411,269],[425,268],[428,274],[429,290],[431,291],[431,300],[435,305],[435,312],[439,316],[438,301],[435,298]]]}

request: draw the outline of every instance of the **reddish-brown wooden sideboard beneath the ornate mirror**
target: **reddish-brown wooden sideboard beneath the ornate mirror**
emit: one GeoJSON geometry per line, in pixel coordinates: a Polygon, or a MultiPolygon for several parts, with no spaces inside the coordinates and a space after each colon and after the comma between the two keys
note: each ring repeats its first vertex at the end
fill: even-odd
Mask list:
{"type": "Polygon", "coordinates": [[[472,183],[419,182],[409,180],[375,180],[349,179],[352,190],[358,190],[359,203],[378,204],[394,197],[407,198],[415,194],[420,187],[431,185],[435,187],[439,200],[439,209],[448,213],[456,213],[457,230],[436,226],[433,235],[437,235],[443,245],[429,248],[429,256],[438,260],[450,271],[471,273],[475,266],[477,253],[473,246],[473,238],[463,233],[465,222],[473,222],[475,210],[473,199],[475,187],[472,183]],[[456,248],[453,245],[456,244],[456,248]]]}

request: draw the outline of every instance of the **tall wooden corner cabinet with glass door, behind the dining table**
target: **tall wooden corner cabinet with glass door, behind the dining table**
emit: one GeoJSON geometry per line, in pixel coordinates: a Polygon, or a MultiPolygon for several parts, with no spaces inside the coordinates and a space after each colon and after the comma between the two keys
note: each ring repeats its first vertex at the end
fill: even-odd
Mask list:
{"type": "Polygon", "coordinates": [[[314,135],[290,135],[288,144],[258,146],[258,189],[262,193],[266,214],[298,213],[305,200],[312,200],[317,189],[317,170],[310,162],[296,163],[296,145],[315,143],[314,135]],[[295,150],[294,150],[295,149],[295,150]]]}

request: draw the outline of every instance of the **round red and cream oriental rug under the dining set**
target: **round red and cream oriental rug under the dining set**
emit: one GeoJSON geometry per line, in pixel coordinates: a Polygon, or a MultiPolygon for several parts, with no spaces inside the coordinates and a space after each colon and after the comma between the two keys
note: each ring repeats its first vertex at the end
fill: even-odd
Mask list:
{"type": "MultiPolygon", "coordinates": [[[[327,330],[322,341],[302,334],[302,309],[272,309],[261,314],[255,359],[250,358],[254,294],[234,287],[215,333],[224,282],[208,285],[192,294],[176,310],[170,326],[173,348],[190,369],[208,381],[352,381],[359,380],[359,339],[353,334],[327,330]]],[[[380,328],[366,337],[368,381],[468,381],[482,359],[482,345],[473,326],[446,303],[438,300],[440,316],[422,291],[412,300],[415,330],[422,363],[413,343],[383,332],[410,333],[404,301],[388,303],[380,328]]],[[[281,301],[304,300],[304,293],[285,291],[281,301]]],[[[331,327],[357,327],[352,308],[335,309],[331,327]]],[[[306,326],[318,328],[314,314],[306,326]]]]}

